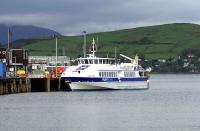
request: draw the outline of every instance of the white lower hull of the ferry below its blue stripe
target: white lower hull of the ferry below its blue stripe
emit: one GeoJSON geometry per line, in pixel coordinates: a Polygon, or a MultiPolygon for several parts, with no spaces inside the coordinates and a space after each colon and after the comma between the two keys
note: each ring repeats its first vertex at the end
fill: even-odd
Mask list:
{"type": "Polygon", "coordinates": [[[72,82],[69,84],[71,90],[139,90],[148,89],[148,81],[134,82],[72,82]]]}

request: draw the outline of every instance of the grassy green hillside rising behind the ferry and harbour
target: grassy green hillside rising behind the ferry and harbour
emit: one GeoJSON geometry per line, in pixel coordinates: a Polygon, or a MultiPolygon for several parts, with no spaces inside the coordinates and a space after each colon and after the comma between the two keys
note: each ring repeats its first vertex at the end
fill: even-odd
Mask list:
{"type": "MultiPolygon", "coordinates": [[[[143,54],[146,59],[169,58],[184,49],[200,49],[200,25],[175,23],[158,26],[139,27],[112,32],[87,35],[87,49],[92,38],[98,36],[98,55],[114,56],[117,53],[128,56],[143,54]]],[[[55,55],[55,39],[23,41],[23,48],[30,55],[55,55]]],[[[82,55],[83,36],[64,36],[58,38],[58,54],[76,58],[82,55]]]]}

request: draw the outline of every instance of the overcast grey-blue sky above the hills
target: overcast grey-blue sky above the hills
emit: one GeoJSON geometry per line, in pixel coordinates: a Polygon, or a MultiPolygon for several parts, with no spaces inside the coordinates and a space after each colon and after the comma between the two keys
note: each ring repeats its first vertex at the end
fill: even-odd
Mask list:
{"type": "Polygon", "coordinates": [[[0,23],[63,35],[174,22],[200,24],[200,0],[1,0],[0,23]]]}

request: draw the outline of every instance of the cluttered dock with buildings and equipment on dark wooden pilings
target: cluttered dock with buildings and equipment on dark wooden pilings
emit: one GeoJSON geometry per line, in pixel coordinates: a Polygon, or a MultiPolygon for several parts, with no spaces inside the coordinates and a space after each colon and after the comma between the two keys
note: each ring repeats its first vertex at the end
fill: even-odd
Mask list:
{"type": "Polygon", "coordinates": [[[0,95],[69,91],[58,70],[69,63],[67,56],[29,56],[25,49],[0,48],[0,95]]]}

